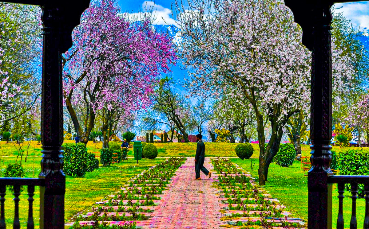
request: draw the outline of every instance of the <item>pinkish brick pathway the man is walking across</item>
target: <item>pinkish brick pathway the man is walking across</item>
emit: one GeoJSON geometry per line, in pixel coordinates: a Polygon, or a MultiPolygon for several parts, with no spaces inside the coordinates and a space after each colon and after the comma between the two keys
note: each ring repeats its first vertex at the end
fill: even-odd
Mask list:
{"type": "MultiPolygon", "coordinates": [[[[194,180],[194,158],[179,167],[172,178],[169,190],[162,196],[158,210],[152,215],[143,228],[191,229],[219,228],[224,224],[220,221],[221,205],[218,190],[212,186],[218,175],[211,179],[201,173],[201,180],[194,180]]],[[[210,159],[206,158],[204,166],[211,171],[210,159]]]]}

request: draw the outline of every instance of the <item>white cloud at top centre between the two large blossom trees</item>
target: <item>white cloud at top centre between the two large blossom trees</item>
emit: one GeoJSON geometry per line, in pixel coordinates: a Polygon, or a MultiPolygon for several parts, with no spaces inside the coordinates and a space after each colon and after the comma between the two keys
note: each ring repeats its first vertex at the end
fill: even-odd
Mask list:
{"type": "Polygon", "coordinates": [[[168,8],[164,8],[161,5],[155,4],[154,1],[144,1],[142,3],[142,9],[139,13],[132,13],[130,17],[135,17],[138,20],[144,18],[145,11],[152,9],[151,18],[154,21],[154,25],[175,25],[176,21],[172,18],[172,11],[168,8]]]}

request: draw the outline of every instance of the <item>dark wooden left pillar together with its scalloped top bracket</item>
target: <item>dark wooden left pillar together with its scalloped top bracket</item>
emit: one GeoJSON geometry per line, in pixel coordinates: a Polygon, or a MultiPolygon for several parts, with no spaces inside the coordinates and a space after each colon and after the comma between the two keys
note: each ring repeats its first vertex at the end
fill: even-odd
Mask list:
{"type": "MultiPolygon", "coordinates": [[[[72,31],[90,0],[1,0],[40,6],[42,9],[42,160],[40,228],[64,228],[65,175],[63,156],[63,102],[61,55],[72,47],[72,31]]],[[[33,220],[33,219],[32,219],[33,220]]],[[[18,224],[18,223],[17,223],[18,224]]],[[[14,224],[15,225],[15,224],[14,224]]],[[[15,226],[18,228],[18,225],[15,226]]]]}

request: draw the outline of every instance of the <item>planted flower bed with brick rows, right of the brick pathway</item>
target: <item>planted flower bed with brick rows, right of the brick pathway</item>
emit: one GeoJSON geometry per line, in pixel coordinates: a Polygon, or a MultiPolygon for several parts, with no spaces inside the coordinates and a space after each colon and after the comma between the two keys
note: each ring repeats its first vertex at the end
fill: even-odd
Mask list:
{"type": "Polygon", "coordinates": [[[302,219],[289,218],[289,212],[277,199],[259,188],[254,179],[228,159],[216,158],[211,162],[220,174],[218,183],[223,206],[221,220],[224,227],[232,228],[304,228],[302,219]]]}

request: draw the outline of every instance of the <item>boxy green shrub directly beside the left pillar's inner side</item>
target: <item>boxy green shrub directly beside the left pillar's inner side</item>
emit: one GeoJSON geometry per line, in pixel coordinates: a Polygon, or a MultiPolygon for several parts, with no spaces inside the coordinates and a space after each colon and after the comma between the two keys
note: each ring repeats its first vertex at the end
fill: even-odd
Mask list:
{"type": "Polygon", "coordinates": [[[63,172],[65,175],[72,177],[85,176],[92,161],[92,157],[87,153],[86,145],[82,142],[77,144],[64,143],[62,147],[64,156],[63,172]]]}

